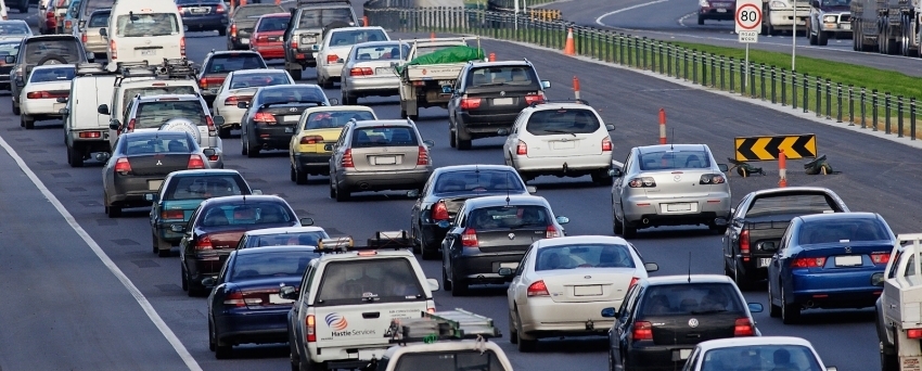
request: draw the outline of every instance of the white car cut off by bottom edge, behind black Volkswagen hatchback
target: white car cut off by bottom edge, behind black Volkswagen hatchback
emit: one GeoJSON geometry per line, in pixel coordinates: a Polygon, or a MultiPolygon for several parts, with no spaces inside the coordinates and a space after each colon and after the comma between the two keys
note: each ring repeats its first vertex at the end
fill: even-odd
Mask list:
{"type": "Polygon", "coordinates": [[[702,342],[682,371],[835,371],[810,342],[790,336],[730,337],[702,342]]]}

